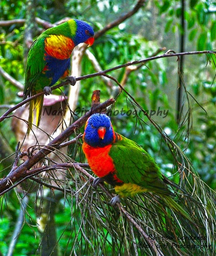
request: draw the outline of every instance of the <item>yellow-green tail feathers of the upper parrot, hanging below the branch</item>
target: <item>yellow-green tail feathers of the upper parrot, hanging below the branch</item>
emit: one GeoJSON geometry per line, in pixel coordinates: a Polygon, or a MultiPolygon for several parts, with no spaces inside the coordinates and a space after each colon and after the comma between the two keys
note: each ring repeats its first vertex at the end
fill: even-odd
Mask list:
{"type": "Polygon", "coordinates": [[[36,109],[36,126],[40,125],[40,118],[43,108],[43,101],[44,96],[38,96],[30,101],[30,107],[29,107],[29,117],[28,117],[28,130],[27,134],[30,133],[30,130],[32,129],[32,123],[34,120],[34,110],[36,109]]]}

